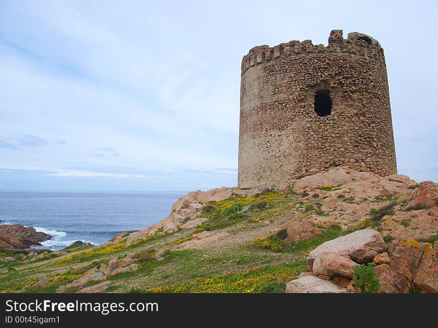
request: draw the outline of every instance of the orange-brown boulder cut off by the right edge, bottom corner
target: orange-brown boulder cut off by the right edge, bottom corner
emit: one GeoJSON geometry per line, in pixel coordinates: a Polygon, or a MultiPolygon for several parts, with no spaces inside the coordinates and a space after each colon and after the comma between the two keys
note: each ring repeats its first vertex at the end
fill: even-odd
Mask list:
{"type": "Polygon", "coordinates": [[[424,243],[425,247],[414,284],[426,293],[438,293],[438,248],[424,243]]]}

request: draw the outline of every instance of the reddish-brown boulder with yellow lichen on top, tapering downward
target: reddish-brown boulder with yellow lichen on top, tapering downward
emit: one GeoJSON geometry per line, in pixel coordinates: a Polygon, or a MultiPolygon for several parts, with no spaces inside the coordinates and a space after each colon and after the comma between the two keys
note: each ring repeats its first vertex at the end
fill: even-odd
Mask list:
{"type": "Polygon", "coordinates": [[[403,274],[411,286],[425,247],[414,239],[396,239],[388,246],[389,266],[403,274]]]}

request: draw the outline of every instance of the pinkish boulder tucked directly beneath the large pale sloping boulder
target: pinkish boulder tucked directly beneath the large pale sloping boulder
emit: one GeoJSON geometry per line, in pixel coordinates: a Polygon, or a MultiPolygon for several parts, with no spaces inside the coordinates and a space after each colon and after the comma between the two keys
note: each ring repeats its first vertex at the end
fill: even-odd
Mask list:
{"type": "Polygon", "coordinates": [[[356,262],[351,261],[345,256],[327,252],[319,254],[313,263],[313,272],[317,276],[320,274],[326,276],[341,276],[347,278],[353,278],[354,266],[356,262]]]}

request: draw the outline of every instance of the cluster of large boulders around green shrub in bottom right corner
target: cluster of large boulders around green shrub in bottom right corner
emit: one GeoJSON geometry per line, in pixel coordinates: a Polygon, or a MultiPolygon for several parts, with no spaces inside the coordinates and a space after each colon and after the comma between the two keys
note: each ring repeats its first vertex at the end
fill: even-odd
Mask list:
{"type": "Polygon", "coordinates": [[[308,272],[287,284],[286,293],[356,293],[354,268],[374,262],[379,293],[418,290],[438,293],[438,247],[397,239],[388,247],[381,235],[363,229],[329,240],[309,253],[308,272]]]}

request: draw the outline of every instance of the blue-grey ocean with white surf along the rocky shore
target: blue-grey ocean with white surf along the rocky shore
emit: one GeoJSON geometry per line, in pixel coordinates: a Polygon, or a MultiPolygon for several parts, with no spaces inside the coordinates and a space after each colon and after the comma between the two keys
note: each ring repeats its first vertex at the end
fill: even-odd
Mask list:
{"type": "Polygon", "coordinates": [[[185,192],[0,192],[0,224],[33,226],[59,250],[76,240],[101,245],[121,231],[141,230],[169,215],[185,192]]]}

